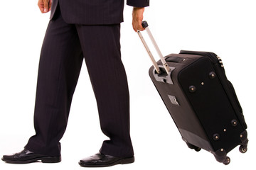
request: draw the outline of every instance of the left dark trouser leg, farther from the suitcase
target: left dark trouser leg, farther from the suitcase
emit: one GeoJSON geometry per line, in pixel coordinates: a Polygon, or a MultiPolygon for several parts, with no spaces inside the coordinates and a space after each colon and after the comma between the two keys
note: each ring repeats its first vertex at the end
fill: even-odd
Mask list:
{"type": "Polygon", "coordinates": [[[68,123],[83,60],[75,25],[65,23],[60,8],[57,10],[41,51],[34,113],[36,135],[25,147],[50,156],[60,156],[59,141],[68,123]]]}

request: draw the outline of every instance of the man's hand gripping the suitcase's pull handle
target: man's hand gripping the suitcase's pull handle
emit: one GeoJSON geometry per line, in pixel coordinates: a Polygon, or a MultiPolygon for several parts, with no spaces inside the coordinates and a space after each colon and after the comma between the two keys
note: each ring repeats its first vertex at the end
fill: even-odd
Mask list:
{"type": "Polygon", "coordinates": [[[133,8],[132,27],[135,32],[137,32],[137,30],[145,30],[145,28],[142,27],[144,9],[145,8],[137,8],[137,7],[133,8]]]}

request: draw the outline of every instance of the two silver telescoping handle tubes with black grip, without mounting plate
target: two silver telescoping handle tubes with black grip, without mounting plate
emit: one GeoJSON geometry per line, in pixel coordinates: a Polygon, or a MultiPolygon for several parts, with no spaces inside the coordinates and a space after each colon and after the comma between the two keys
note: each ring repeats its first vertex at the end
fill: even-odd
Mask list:
{"type": "MultiPolygon", "coordinates": [[[[151,31],[149,30],[149,25],[148,25],[148,23],[147,23],[146,21],[143,21],[143,22],[142,22],[142,26],[143,26],[143,28],[146,29],[146,33],[148,33],[149,38],[151,39],[151,42],[153,43],[153,45],[154,45],[154,47],[155,47],[155,49],[156,49],[156,52],[158,53],[158,55],[159,55],[159,57],[160,57],[160,60],[161,60],[161,62],[163,63],[163,66],[164,66],[164,69],[166,70],[166,73],[169,74],[169,72],[171,72],[171,69],[170,69],[169,65],[166,63],[166,60],[164,60],[164,56],[162,55],[161,51],[159,50],[159,47],[158,47],[158,45],[156,44],[156,40],[154,40],[154,37],[153,37],[153,35],[151,34],[151,31]]],[[[159,66],[158,66],[158,64],[156,63],[156,60],[154,60],[154,57],[153,57],[151,51],[149,50],[149,46],[146,44],[146,41],[144,40],[144,38],[143,38],[143,36],[142,36],[142,33],[141,33],[139,30],[137,30],[137,33],[138,33],[138,35],[139,35],[139,38],[142,40],[142,43],[143,43],[144,47],[146,48],[146,51],[148,52],[151,61],[153,62],[153,65],[154,65],[154,68],[156,69],[156,72],[157,72],[158,74],[160,74],[159,66]]]]}

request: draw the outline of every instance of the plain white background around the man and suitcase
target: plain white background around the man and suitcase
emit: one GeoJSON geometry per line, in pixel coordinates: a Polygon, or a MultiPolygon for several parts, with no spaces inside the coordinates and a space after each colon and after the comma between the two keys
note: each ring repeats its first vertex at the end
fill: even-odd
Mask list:
{"type": "MultiPolygon", "coordinates": [[[[36,0],[1,1],[0,156],[21,151],[34,135],[38,61],[49,14],[41,14],[36,0]]],[[[228,154],[231,163],[225,166],[209,152],[188,149],[181,140],[149,78],[151,62],[132,30],[132,7],[125,6],[122,60],[129,81],[136,162],[106,169],[254,169],[255,18],[253,0],[151,0],[144,13],[164,55],[179,50],[201,50],[222,57],[227,77],[242,105],[250,140],[247,153],[241,154],[238,147],[233,149],[228,154]]],[[[83,64],[68,128],[60,141],[62,162],[16,165],[0,161],[0,169],[83,169],[78,165],[79,160],[95,154],[103,140],[107,138],[100,131],[95,97],[83,64]]]]}

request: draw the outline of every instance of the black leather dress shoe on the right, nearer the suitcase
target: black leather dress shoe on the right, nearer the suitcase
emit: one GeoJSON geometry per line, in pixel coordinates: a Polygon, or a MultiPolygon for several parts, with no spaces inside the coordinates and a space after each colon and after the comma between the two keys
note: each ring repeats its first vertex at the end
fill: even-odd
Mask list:
{"type": "Polygon", "coordinates": [[[97,153],[91,157],[81,159],[79,164],[83,167],[106,167],[116,164],[130,164],[134,162],[134,157],[112,157],[107,154],[97,153]]]}

